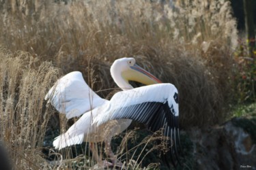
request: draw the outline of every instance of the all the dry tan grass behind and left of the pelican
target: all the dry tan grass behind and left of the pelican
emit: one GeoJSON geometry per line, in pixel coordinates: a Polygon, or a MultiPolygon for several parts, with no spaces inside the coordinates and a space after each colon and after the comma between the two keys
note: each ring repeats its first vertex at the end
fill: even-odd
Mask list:
{"type": "Polygon", "coordinates": [[[183,128],[211,126],[227,117],[223,109],[231,96],[237,43],[229,1],[177,0],[175,7],[149,1],[3,2],[1,138],[12,148],[18,169],[37,169],[44,162],[37,156],[52,115],[43,101],[48,87],[79,70],[89,86],[109,98],[115,87],[110,65],[124,56],[135,56],[139,65],[177,86],[183,128]]]}

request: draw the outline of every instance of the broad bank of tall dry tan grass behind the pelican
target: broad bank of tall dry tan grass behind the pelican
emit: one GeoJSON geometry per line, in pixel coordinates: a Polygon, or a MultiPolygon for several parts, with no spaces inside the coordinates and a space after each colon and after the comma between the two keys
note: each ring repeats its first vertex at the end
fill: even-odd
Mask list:
{"type": "MultiPolygon", "coordinates": [[[[177,86],[182,126],[208,126],[226,117],[223,101],[229,101],[237,42],[228,1],[177,1],[174,7],[147,1],[32,2],[33,16],[16,9],[0,21],[0,39],[11,50],[53,61],[63,73],[82,71],[96,91],[115,86],[109,67],[116,58],[136,56],[145,69],[177,86]]],[[[99,93],[106,97],[109,91],[99,93]]]]}

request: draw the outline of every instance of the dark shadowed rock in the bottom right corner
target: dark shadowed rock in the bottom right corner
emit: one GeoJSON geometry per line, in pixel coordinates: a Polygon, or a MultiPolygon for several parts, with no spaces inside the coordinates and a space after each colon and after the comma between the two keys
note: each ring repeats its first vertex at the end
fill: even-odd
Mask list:
{"type": "MultiPolygon", "coordinates": [[[[238,120],[239,121],[239,120],[238,120]]],[[[256,169],[256,144],[250,133],[228,121],[187,132],[193,141],[196,169],[256,169]]]]}

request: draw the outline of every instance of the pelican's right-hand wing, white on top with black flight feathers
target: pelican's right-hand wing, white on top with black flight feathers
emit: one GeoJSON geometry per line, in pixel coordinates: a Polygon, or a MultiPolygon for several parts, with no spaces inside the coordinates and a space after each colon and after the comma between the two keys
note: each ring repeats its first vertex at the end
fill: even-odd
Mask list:
{"type": "Polygon", "coordinates": [[[146,124],[151,131],[164,129],[169,152],[162,159],[169,165],[179,162],[180,137],[178,127],[177,89],[172,84],[154,84],[117,92],[104,114],[94,121],[104,124],[109,120],[131,119],[146,124]],[[178,148],[179,147],[179,148],[178,148]]]}

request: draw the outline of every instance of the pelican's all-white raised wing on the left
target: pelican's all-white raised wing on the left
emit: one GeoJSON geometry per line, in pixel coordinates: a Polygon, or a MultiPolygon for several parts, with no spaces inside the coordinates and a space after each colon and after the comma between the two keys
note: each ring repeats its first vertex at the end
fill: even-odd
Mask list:
{"type": "Polygon", "coordinates": [[[81,116],[108,102],[89,88],[79,71],[68,73],[57,80],[44,99],[48,100],[60,113],[66,114],[67,118],[81,116]]]}

